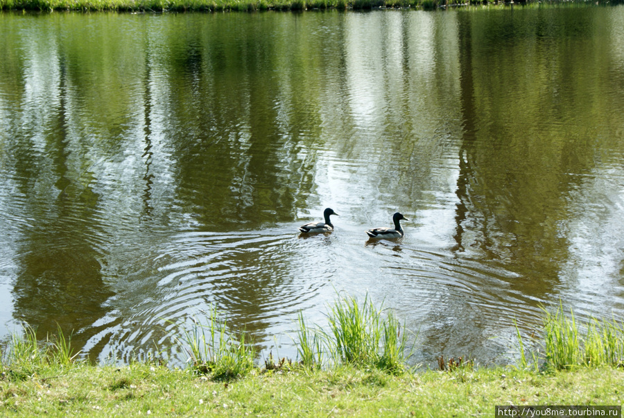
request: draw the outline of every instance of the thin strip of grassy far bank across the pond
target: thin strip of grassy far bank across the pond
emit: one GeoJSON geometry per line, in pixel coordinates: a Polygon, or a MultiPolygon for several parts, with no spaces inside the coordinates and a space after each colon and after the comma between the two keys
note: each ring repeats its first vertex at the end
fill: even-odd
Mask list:
{"type": "MultiPolygon", "coordinates": [[[[623,0],[598,0],[601,4],[616,4],[623,0]]],[[[34,11],[119,11],[119,12],[222,12],[260,10],[367,10],[373,8],[415,8],[433,10],[440,7],[510,4],[504,0],[0,0],[0,10],[34,11]]],[[[515,3],[541,3],[538,0],[515,3]]],[[[548,1],[549,4],[589,1],[548,1]]],[[[591,4],[596,1],[591,2],[591,4]]]]}

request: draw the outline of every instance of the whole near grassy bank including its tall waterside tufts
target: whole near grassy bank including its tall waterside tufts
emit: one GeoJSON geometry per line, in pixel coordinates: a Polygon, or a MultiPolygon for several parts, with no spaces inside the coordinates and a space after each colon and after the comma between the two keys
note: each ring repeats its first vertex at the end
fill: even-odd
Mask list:
{"type": "Polygon", "coordinates": [[[441,358],[440,370],[415,371],[406,367],[413,341],[392,312],[367,298],[328,308],[327,329],[300,315],[296,361],[263,365],[248,335],[211,310],[206,324],[174,331],[189,354],[184,370],[162,359],[90,365],[60,330],[41,341],[26,326],[2,348],[0,415],[465,417],[492,416],[496,405],[624,400],[624,325],[614,319],[580,326],[561,306],[544,310],[540,344],[526,349],[518,332],[515,366],[441,358]]]}

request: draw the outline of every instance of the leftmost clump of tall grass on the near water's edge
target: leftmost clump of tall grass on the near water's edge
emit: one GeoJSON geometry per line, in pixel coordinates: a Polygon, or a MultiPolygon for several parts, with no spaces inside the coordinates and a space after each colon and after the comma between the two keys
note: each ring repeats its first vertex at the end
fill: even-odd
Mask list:
{"type": "Polygon", "coordinates": [[[23,380],[41,370],[69,367],[76,362],[80,351],[71,348],[71,334],[65,336],[57,324],[57,334],[47,334],[45,340],[37,340],[37,331],[24,324],[23,333],[12,333],[10,340],[2,347],[0,367],[4,375],[23,380]]]}

